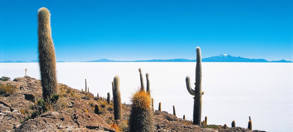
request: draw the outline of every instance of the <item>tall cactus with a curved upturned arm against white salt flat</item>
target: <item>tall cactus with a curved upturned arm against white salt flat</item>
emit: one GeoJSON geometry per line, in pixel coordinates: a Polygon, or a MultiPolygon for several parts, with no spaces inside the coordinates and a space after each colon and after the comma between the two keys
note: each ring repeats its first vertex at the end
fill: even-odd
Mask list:
{"type": "Polygon", "coordinates": [[[201,80],[202,80],[202,65],[201,65],[201,52],[200,48],[196,48],[196,68],[195,68],[195,90],[191,88],[190,78],[187,76],[186,88],[189,94],[194,95],[194,105],[193,105],[193,125],[201,125],[201,110],[202,110],[202,90],[201,90],[201,80]]]}

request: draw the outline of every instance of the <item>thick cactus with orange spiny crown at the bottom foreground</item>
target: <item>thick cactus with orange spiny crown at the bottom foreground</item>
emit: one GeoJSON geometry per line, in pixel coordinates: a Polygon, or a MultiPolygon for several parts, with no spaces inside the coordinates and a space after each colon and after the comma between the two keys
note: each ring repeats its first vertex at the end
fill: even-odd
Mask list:
{"type": "Polygon", "coordinates": [[[150,93],[138,90],[131,97],[131,111],[128,126],[130,132],[153,132],[154,120],[150,93]]]}

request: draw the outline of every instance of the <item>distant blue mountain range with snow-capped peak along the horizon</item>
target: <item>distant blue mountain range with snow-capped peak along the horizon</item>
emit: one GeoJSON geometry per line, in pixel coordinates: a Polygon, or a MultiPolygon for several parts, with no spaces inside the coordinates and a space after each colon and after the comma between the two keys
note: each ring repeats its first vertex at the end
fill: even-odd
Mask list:
{"type": "MultiPolygon", "coordinates": [[[[25,61],[15,61],[15,62],[25,62],[25,61]]],[[[38,60],[32,60],[30,62],[38,62],[38,60]]],[[[57,61],[64,62],[64,61],[57,61]]],[[[135,60],[135,61],[120,61],[120,60],[108,60],[108,59],[100,59],[100,60],[92,60],[86,62],[196,62],[196,60],[188,60],[188,59],[169,59],[169,60],[135,60]]],[[[202,62],[292,62],[287,60],[278,60],[278,61],[268,61],[265,59],[249,59],[243,57],[234,57],[228,54],[221,54],[219,56],[213,56],[208,58],[202,58],[202,62]]],[[[13,61],[3,61],[0,63],[13,63],[13,61]]]]}

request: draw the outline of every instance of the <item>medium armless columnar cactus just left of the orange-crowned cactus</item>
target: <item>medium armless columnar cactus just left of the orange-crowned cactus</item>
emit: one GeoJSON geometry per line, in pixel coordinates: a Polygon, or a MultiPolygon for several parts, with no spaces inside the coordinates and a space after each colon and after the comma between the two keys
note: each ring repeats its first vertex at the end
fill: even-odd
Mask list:
{"type": "Polygon", "coordinates": [[[122,117],[121,114],[121,96],[120,96],[120,79],[119,76],[115,76],[113,80],[113,101],[114,101],[114,119],[119,120],[122,117]]]}

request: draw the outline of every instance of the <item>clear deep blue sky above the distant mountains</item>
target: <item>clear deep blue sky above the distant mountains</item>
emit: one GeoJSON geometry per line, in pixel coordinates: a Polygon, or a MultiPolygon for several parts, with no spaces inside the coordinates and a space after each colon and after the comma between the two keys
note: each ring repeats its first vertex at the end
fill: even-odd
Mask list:
{"type": "Polygon", "coordinates": [[[227,53],[293,61],[292,0],[0,1],[0,61],[37,60],[37,11],[51,12],[59,61],[195,59],[227,53]]]}

